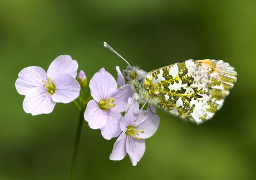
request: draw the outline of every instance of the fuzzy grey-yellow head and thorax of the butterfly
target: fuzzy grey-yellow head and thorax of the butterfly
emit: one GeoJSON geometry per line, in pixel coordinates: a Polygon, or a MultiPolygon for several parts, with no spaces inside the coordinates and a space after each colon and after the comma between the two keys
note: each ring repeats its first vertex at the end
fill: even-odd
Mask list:
{"type": "Polygon", "coordinates": [[[127,66],[123,74],[127,84],[129,84],[132,91],[137,94],[136,99],[140,102],[145,102],[149,96],[149,92],[144,88],[146,71],[139,69],[137,66],[127,66]]]}

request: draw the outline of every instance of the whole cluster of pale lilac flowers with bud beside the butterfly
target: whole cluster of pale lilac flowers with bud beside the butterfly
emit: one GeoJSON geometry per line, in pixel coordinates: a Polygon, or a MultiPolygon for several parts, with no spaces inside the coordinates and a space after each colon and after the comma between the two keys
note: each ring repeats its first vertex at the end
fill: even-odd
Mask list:
{"type": "MultiPolygon", "coordinates": [[[[56,102],[69,103],[87,85],[83,71],[78,74],[78,63],[69,55],[58,56],[47,73],[38,66],[29,66],[18,74],[15,86],[25,95],[23,109],[32,115],[49,114],[56,102]]],[[[140,112],[139,103],[132,101],[129,85],[116,66],[117,82],[104,68],[93,75],[89,87],[93,97],[87,104],[85,120],[93,129],[100,129],[107,140],[117,137],[110,160],[122,160],[128,153],[135,166],[145,152],[145,138],[151,137],[159,126],[159,116],[153,106],[140,112]],[[122,113],[125,112],[124,117],[122,113]]]]}

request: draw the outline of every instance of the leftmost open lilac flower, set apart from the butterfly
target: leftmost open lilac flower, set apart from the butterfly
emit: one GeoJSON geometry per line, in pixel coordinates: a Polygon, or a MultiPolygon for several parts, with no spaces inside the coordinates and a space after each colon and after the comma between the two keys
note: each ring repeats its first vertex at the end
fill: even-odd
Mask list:
{"type": "Polygon", "coordinates": [[[33,116],[49,114],[56,102],[68,103],[79,96],[80,85],[75,79],[78,64],[69,55],[52,61],[47,73],[41,67],[22,69],[15,82],[19,94],[25,95],[23,109],[33,116]]]}

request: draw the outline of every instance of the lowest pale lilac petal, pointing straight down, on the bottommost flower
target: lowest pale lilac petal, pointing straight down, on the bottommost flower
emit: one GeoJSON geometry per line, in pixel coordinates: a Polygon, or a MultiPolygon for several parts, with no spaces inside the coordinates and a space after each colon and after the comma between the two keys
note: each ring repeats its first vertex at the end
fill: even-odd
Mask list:
{"type": "Polygon", "coordinates": [[[134,137],[127,136],[126,148],[132,165],[136,166],[137,162],[140,161],[146,150],[145,140],[138,140],[134,137]]]}

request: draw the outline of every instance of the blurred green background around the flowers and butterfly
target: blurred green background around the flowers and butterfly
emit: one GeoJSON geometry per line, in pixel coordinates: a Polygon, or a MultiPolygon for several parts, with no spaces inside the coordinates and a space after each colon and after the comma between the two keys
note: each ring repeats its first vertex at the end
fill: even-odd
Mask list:
{"type": "MultiPolygon", "coordinates": [[[[187,59],[223,59],[238,81],[222,109],[203,125],[159,110],[136,167],[110,161],[116,138],[84,122],[76,179],[255,179],[256,1],[0,1],[0,179],[67,179],[78,120],[74,104],[48,115],[22,109],[14,82],[26,66],[45,70],[69,54],[87,78],[124,61],[150,71],[187,59]]],[[[90,90],[87,88],[85,94],[90,90]]]]}

